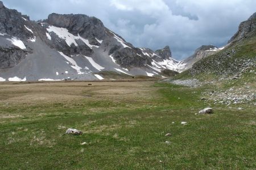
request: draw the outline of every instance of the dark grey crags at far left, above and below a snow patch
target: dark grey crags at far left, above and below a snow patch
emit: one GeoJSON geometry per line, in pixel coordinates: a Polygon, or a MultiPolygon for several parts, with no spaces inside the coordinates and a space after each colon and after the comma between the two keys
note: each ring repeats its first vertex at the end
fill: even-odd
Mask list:
{"type": "Polygon", "coordinates": [[[16,66],[22,59],[26,58],[28,53],[31,53],[29,48],[20,49],[11,44],[10,41],[6,41],[13,37],[15,40],[27,41],[34,37],[33,33],[26,27],[32,28],[29,17],[16,10],[6,8],[0,1],[0,33],[5,36],[1,38],[0,69],[16,66]]]}

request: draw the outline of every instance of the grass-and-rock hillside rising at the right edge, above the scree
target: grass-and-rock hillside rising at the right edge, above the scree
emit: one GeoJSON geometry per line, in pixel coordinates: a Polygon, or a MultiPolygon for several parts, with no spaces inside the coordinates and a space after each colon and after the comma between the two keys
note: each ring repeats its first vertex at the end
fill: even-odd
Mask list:
{"type": "Polygon", "coordinates": [[[256,14],[239,25],[237,33],[220,52],[200,59],[189,71],[192,75],[212,73],[240,76],[256,69],[256,14]]]}

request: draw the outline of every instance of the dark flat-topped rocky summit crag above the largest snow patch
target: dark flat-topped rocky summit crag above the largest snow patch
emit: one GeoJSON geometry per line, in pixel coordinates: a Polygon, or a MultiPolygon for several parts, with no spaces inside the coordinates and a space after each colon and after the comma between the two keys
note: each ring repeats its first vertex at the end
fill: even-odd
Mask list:
{"type": "Polygon", "coordinates": [[[104,39],[106,36],[104,24],[100,19],[82,14],[50,14],[47,23],[56,27],[67,28],[73,35],[80,35],[86,39],[104,39]]]}

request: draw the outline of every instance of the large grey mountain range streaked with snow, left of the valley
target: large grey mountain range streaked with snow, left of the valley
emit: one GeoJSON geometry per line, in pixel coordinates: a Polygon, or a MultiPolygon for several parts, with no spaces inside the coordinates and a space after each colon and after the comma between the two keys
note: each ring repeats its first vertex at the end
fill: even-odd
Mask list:
{"type": "Polygon", "coordinates": [[[0,1],[0,81],[98,80],[108,71],[160,78],[184,67],[169,46],[135,48],[95,17],[50,14],[34,22],[0,1]]]}

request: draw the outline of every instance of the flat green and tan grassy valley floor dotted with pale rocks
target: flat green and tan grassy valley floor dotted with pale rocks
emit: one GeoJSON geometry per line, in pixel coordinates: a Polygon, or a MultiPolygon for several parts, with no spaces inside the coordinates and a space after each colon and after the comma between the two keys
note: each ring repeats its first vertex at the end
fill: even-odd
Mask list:
{"type": "Polygon", "coordinates": [[[210,88],[1,83],[0,169],[255,169],[255,105],[200,100],[210,88]]]}

